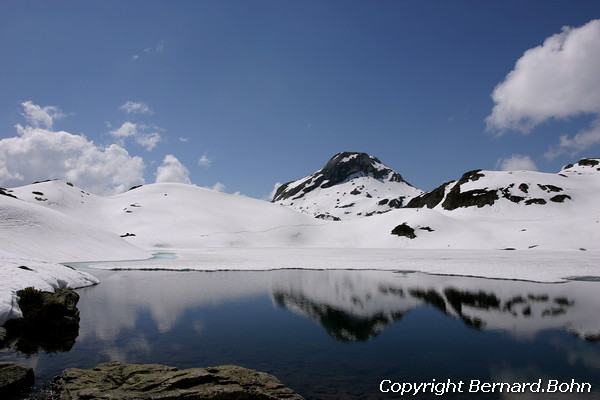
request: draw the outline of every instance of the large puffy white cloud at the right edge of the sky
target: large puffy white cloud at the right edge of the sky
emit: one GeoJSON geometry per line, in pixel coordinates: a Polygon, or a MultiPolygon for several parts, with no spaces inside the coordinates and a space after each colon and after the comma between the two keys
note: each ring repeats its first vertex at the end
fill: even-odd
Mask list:
{"type": "Polygon", "coordinates": [[[492,94],[487,129],[529,133],[551,119],[595,115],[589,129],[563,136],[546,157],[573,154],[600,142],[600,19],[547,38],[527,50],[492,94]]]}

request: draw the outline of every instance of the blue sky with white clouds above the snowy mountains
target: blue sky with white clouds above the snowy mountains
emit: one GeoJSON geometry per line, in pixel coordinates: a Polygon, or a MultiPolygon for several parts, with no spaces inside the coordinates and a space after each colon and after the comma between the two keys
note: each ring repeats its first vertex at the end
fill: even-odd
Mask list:
{"type": "Polygon", "coordinates": [[[0,2],[0,187],[270,200],[341,151],[423,190],[600,157],[600,2],[0,2]]]}

